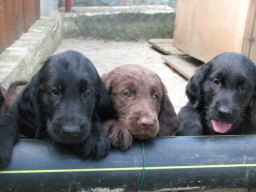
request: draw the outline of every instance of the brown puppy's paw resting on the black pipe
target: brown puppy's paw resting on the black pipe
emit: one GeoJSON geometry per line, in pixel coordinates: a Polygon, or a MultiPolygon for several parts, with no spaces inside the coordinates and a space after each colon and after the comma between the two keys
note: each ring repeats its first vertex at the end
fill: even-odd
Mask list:
{"type": "Polygon", "coordinates": [[[102,132],[112,145],[121,150],[127,150],[133,144],[133,137],[124,124],[117,120],[109,120],[102,124],[102,132]]]}

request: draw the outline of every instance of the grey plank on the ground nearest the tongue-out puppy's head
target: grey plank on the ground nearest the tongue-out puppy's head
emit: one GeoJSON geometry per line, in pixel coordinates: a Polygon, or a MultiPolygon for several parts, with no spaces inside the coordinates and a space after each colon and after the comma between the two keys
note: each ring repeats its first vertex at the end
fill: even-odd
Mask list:
{"type": "Polygon", "coordinates": [[[187,79],[193,76],[195,70],[203,64],[202,61],[190,56],[164,55],[162,58],[170,67],[187,79]]]}

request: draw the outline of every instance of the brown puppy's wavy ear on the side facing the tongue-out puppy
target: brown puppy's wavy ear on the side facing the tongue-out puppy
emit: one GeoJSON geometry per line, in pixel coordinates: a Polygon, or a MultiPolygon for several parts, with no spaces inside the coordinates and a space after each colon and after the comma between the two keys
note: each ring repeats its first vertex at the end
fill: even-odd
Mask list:
{"type": "Polygon", "coordinates": [[[174,136],[180,131],[180,121],[174,110],[174,106],[167,95],[167,90],[163,87],[163,100],[161,110],[158,115],[159,131],[157,136],[174,136]]]}

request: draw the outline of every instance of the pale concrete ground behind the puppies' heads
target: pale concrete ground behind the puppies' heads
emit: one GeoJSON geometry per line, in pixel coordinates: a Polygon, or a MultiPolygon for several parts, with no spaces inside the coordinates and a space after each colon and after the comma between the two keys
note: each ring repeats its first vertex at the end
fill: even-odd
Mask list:
{"type": "Polygon", "coordinates": [[[155,71],[162,79],[176,112],[187,101],[187,80],[164,63],[160,52],[147,42],[116,42],[83,38],[62,39],[54,54],[75,50],[87,56],[95,65],[99,75],[117,66],[140,64],[155,71]]]}

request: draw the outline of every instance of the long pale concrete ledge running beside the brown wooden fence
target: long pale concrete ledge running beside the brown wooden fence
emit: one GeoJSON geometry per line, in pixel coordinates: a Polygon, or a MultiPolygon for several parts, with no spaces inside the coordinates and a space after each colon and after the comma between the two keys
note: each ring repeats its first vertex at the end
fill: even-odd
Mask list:
{"type": "Polygon", "coordinates": [[[27,33],[22,34],[0,54],[0,84],[8,88],[15,80],[30,80],[61,42],[61,17],[56,11],[40,17],[27,33]]]}

